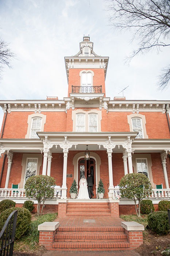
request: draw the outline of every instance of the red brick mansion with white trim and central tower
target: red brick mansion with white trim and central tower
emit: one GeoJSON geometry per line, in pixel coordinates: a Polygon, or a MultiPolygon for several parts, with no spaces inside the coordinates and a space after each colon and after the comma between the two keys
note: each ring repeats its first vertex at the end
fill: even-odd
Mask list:
{"type": "MultiPolygon", "coordinates": [[[[121,177],[133,172],[150,179],[155,205],[160,199],[170,199],[170,101],[107,97],[108,59],[94,53],[93,42],[83,37],[80,51],[65,57],[67,97],[0,101],[4,111],[0,200],[23,204],[27,178],[49,175],[61,188],[47,200],[45,209],[57,211],[59,204],[78,202],[70,199],[72,182],[75,179],[78,184],[82,174],[87,177],[90,173],[94,201],[100,200],[96,191],[101,179],[103,202],[115,202],[121,177]],[[86,145],[89,160],[85,160],[86,145]],[[161,186],[159,191],[156,185],[161,186]],[[108,199],[108,192],[112,198],[108,199]]],[[[117,203],[122,213],[127,205],[129,211],[134,207],[126,199],[117,203]]]]}

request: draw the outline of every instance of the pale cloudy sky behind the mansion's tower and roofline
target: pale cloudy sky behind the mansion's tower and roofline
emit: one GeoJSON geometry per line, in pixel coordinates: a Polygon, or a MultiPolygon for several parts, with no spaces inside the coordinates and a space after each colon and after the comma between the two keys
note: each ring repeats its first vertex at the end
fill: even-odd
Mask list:
{"type": "MultiPolygon", "coordinates": [[[[0,0],[0,37],[16,54],[13,69],[4,69],[0,99],[46,99],[67,97],[64,56],[79,51],[83,35],[90,35],[94,52],[109,56],[106,96],[126,99],[168,100],[170,89],[158,92],[159,71],[169,64],[169,48],[125,57],[138,42],[131,33],[109,24],[104,0],[0,0]]],[[[0,110],[0,122],[3,111],[0,110]]]]}

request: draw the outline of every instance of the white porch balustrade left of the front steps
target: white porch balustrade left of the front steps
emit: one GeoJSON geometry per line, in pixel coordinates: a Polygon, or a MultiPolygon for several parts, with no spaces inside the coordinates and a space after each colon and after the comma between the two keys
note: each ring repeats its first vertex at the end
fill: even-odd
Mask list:
{"type": "MultiPolygon", "coordinates": [[[[62,188],[54,189],[53,199],[61,198],[62,188]]],[[[23,188],[0,188],[0,198],[26,198],[25,189],[23,188]]]]}

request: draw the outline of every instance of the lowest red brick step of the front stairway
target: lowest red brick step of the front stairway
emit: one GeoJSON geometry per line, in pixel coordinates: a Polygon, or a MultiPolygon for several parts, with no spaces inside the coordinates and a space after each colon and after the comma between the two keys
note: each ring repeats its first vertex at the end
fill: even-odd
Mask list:
{"type": "Polygon", "coordinates": [[[117,248],[122,249],[122,248],[130,248],[130,244],[128,242],[54,242],[53,243],[53,248],[86,248],[86,249],[103,249],[107,251],[108,248],[117,248]]]}

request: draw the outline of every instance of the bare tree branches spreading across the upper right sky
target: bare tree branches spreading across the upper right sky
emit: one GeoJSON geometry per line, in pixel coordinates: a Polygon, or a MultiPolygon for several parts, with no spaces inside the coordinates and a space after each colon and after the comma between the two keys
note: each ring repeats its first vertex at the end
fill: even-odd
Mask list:
{"type": "MultiPolygon", "coordinates": [[[[114,27],[130,29],[132,40],[137,39],[139,48],[127,61],[139,53],[170,46],[170,0],[108,0],[109,20],[114,27]]],[[[167,56],[169,57],[169,56],[167,56]]],[[[159,76],[159,89],[170,85],[170,66],[159,76]]]]}

